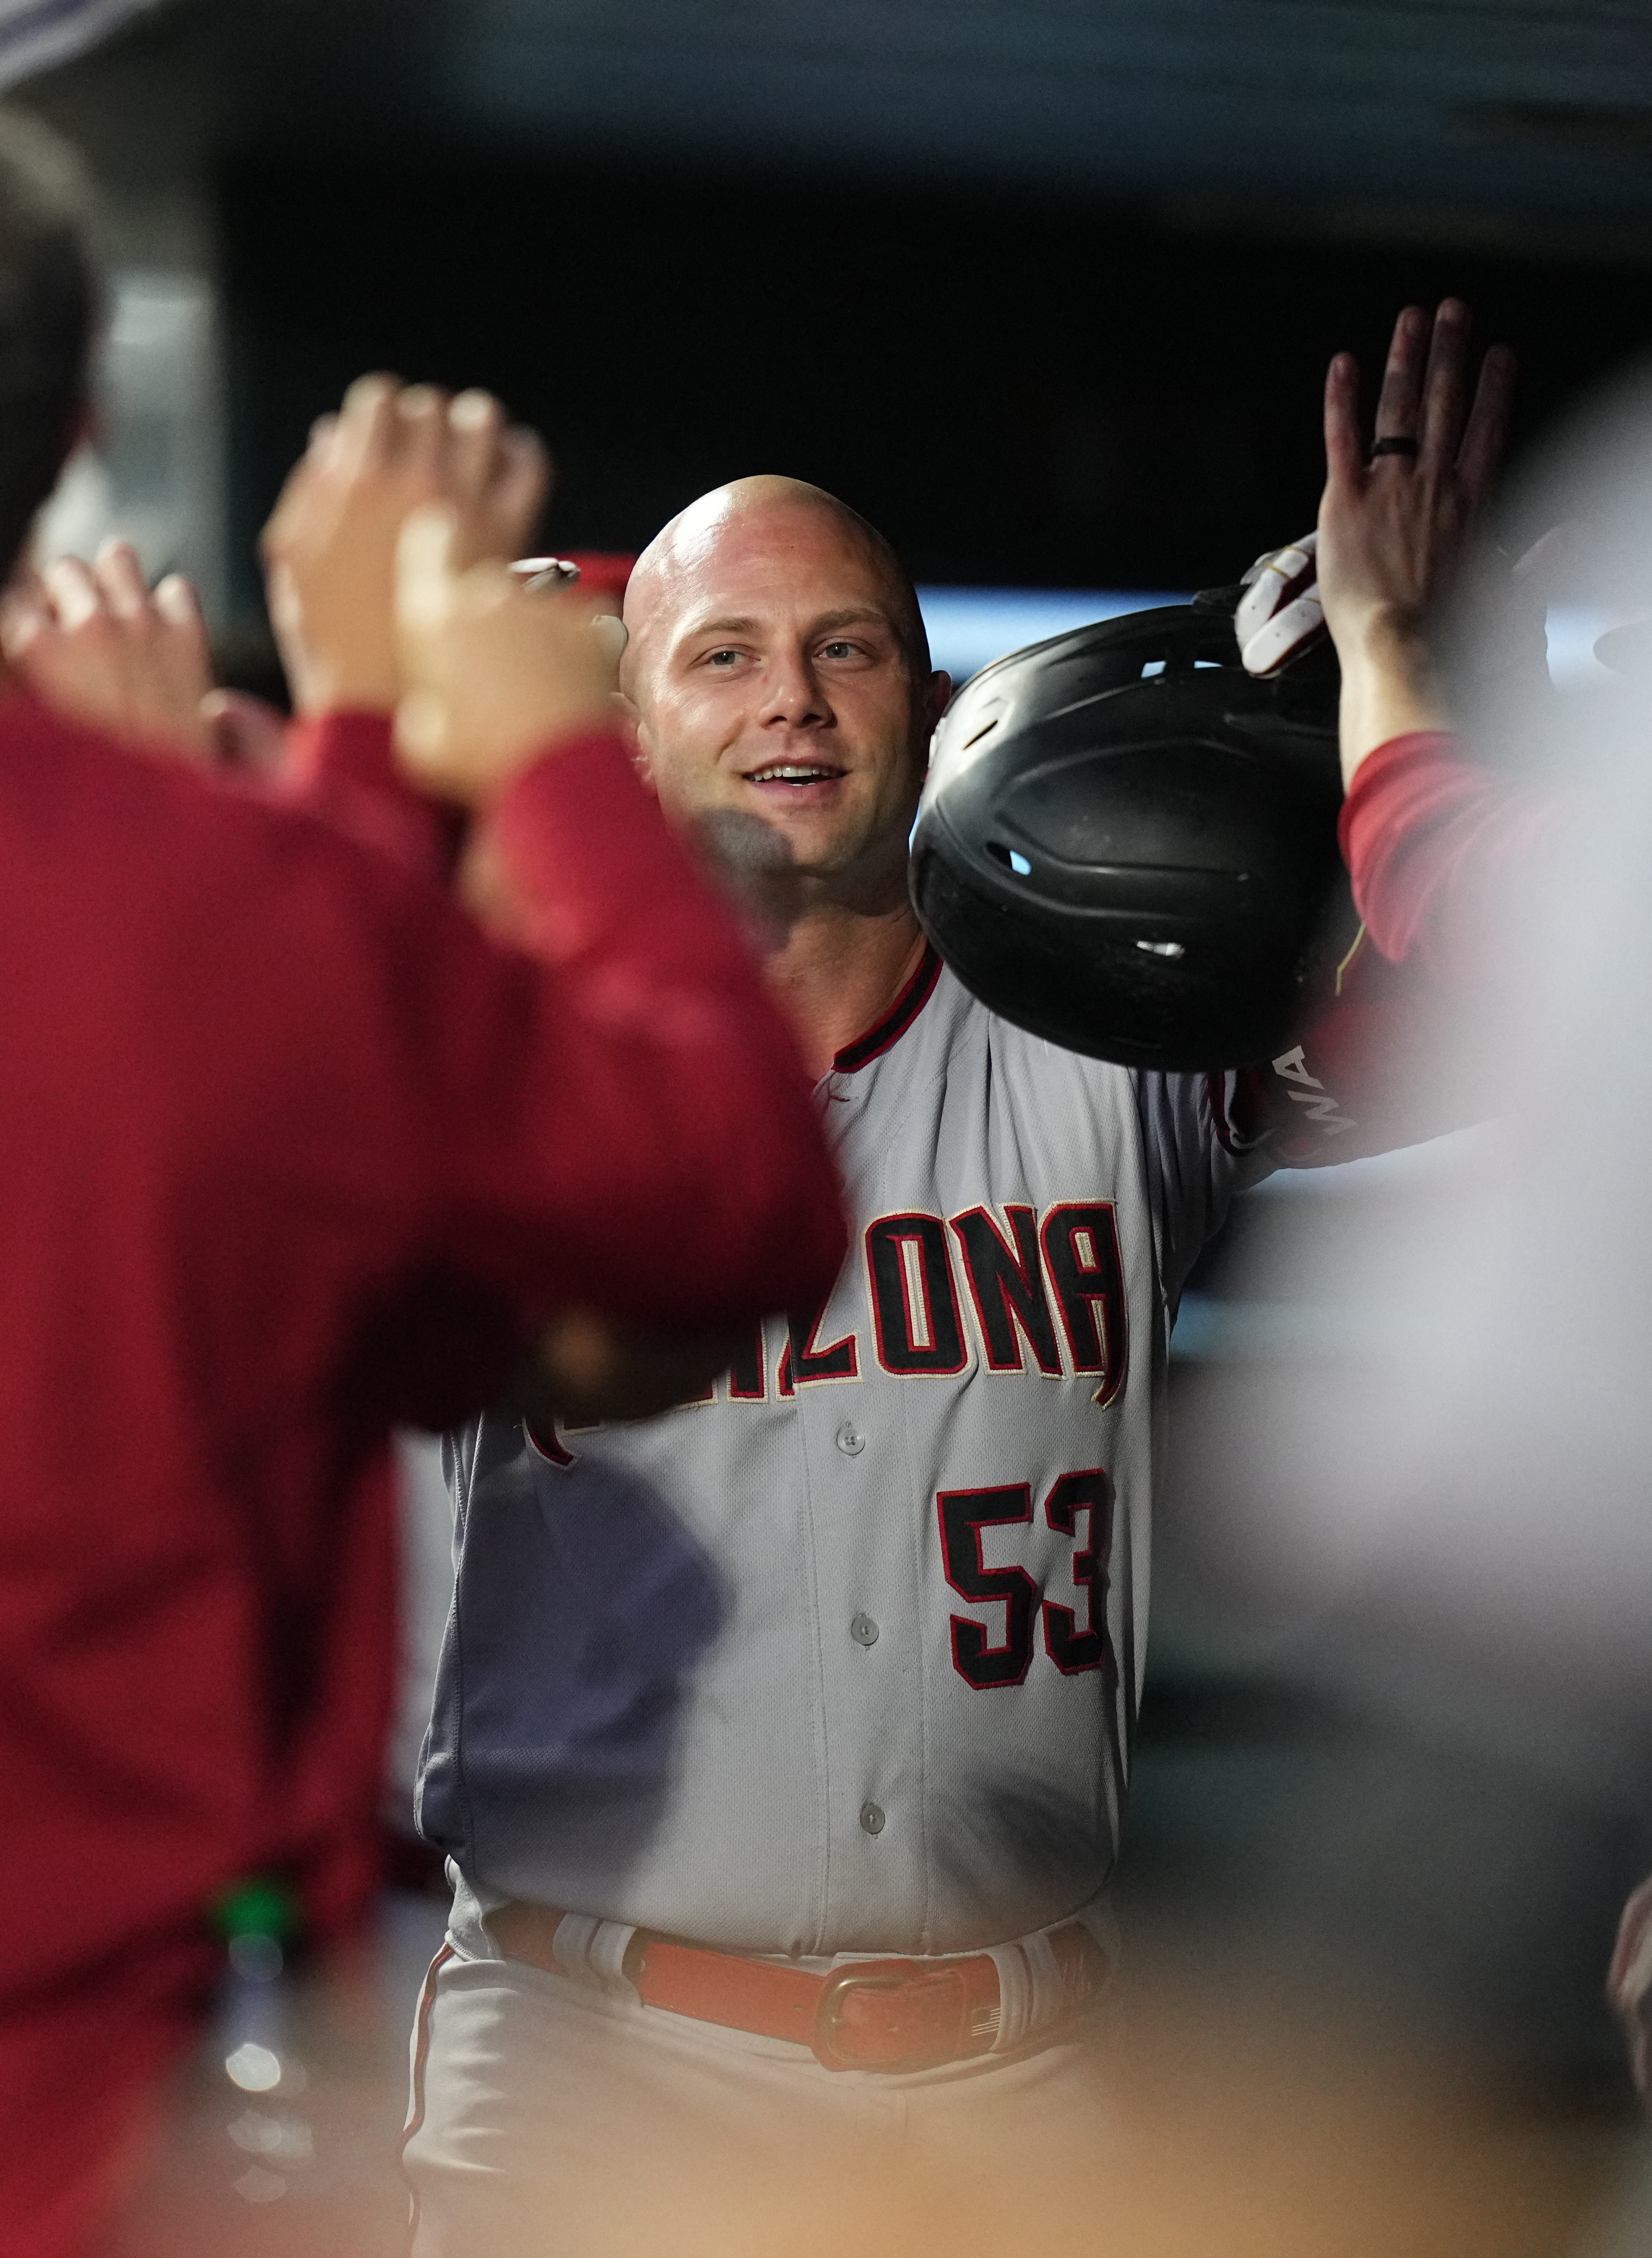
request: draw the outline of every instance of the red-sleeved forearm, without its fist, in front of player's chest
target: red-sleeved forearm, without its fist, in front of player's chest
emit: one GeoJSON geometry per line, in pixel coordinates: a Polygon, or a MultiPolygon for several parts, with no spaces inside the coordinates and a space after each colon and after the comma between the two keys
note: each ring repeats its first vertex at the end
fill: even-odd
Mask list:
{"type": "Polygon", "coordinates": [[[486,822],[522,946],[554,971],[536,1030],[565,1262],[658,1330],[825,1298],[838,1183],[791,1032],[728,908],[624,743],[567,741],[486,822]]]}

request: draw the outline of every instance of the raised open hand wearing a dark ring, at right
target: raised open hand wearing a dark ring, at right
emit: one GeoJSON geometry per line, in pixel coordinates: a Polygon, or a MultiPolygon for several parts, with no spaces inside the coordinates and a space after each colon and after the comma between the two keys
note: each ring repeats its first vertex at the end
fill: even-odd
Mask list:
{"type": "Polygon", "coordinates": [[[1367,456],[1358,364],[1324,382],[1327,481],[1318,578],[1342,662],[1342,774],[1383,738],[1440,727],[1433,628],[1507,445],[1514,355],[1494,345],[1469,395],[1469,312],[1406,307],[1388,348],[1367,456]]]}

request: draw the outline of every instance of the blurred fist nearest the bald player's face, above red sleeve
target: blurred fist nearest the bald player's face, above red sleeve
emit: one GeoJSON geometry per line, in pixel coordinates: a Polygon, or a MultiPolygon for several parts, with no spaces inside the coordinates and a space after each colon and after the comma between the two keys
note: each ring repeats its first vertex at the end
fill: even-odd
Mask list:
{"type": "Polygon", "coordinates": [[[572,592],[533,596],[504,564],[468,562],[459,510],[407,519],[395,625],[395,750],[420,790],[486,808],[556,738],[615,727],[624,630],[572,592]]]}

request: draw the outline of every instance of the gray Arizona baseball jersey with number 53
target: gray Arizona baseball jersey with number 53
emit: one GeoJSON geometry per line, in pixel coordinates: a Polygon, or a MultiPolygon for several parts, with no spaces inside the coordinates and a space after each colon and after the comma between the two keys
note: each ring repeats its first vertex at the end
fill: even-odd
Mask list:
{"type": "Polygon", "coordinates": [[[825,1310],[664,1418],[447,1445],[420,1824],[484,1906],[938,1953],[1107,1879],[1171,1319],[1266,1163],[1220,1084],[1055,1050],[933,957],[820,1097],[825,1310]]]}

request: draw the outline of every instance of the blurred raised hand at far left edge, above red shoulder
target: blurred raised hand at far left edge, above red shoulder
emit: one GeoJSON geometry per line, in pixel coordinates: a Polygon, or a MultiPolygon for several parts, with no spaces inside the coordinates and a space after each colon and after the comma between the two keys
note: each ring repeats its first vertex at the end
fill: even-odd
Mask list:
{"type": "Polygon", "coordinates": [[[151,592],[136,551],[104,542],[95,564],[56,558],[0,610],[7,666],[45,704],[124,743],[217,759],[206,623],[169,574],[151,592]]]}

